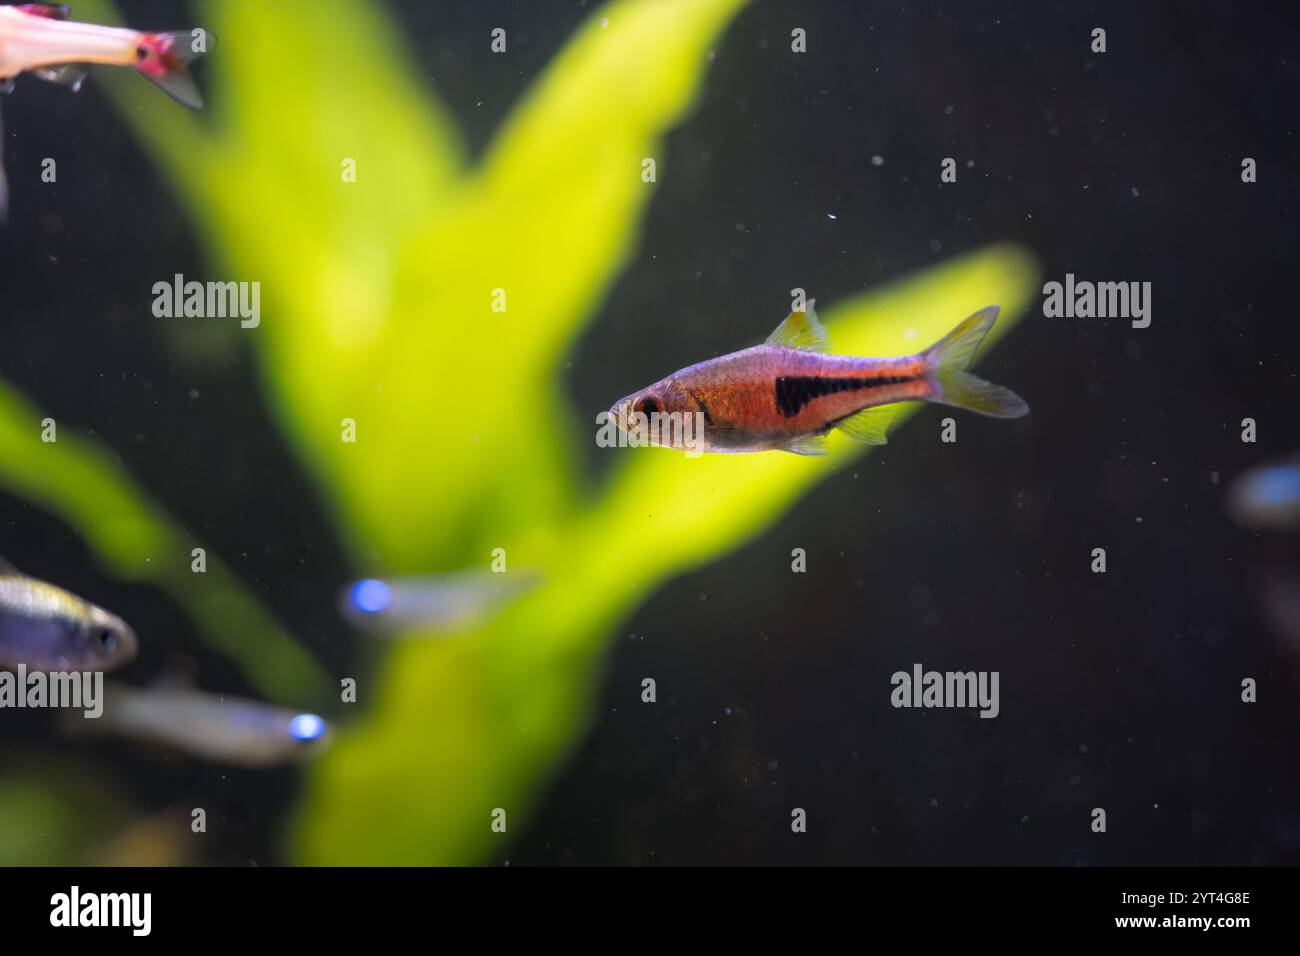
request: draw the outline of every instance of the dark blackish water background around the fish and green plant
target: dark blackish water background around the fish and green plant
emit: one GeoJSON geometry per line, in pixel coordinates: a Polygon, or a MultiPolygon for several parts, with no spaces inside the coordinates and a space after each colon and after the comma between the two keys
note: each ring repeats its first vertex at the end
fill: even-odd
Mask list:
{"type": "MultiPolygon", "coordinates": [[[[389,7],[476,152],[592,9],[389,7]],[[508,59],[488,52],[495,26],[508,59]]],[[[122,8],[142,29],[194,20],[122,8]]],[[[1242,532],[1222,507],[1232,475],[1300,450],[1297,72],[1300,16],[1269,5],[740,16],[668,139],[640,250],[573,355],[576,414],[762,338],[794,286],[833,303],[996,239],[1032,248],[1049,280],[1152,282],[1152,325],[1032,313],[980,365],[1028,419],[961,416],[942,445],[944,414],[927,410],[775,529],[664,587],[620,630],[597,726],[514,865],[1300,861],[1300,683],[1252,591],[1268,562],[1300,566],[1300,542],[1242,532]],[[1096,26],[1105,55],[1088,51],[1096,26]],[[944,156],[956,185],[939,182],[944,156]],[[806,575],[790,574],[796,546],[806,575]],[[1088,570],[1096,546],[1106,575],[1088,570]],[[892,709],[889,675],[914,662],[1000,671],[1001,715],[892,709]],[[645,676],[659,706],[638,701],[645,676]],[[1244,676],[1258,704],[1240,702],[1244,676]],[[807,834],[790,834],[792,806],[807,834]]],[[[117,449],[332,671],[355,674],[330,597],[343,549],[238,333],[195,343],[148,313],[153,282],[203,273],[168,186],[94,81],[75,96],[20,81],[0,105],[0,375],[117,449]],[[43,156],[58,159],[56,186],[16,174],[43,156]]],[[[607,454],[592,449],[593,472],[607,454]]],[[[29,572],[168,635],[207,687],[248,692],[165,596],[100,576],[58,522],[0,496],[0,541],[29,572]]],[[[166,662],[146,654],[124,676],[166,662]]],[[[49,723],[6,719],[0,761],[81,752],[140,808],[204,793],[230,834],[211,860],[276,858],[292,771],[69,745],[49,723]]]]}

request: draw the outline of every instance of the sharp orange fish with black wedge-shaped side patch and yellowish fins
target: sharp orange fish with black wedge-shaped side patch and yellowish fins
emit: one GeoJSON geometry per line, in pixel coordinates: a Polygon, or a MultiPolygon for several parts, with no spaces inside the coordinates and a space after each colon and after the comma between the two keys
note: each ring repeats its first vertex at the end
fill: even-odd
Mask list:
{"type": "Polygon", "coordinates": [[[716,454],[780,449],[824,455],[832,428],[883,445],[898,402],[1020,418],[1030,407],[1019,395],[966,371],[997,308],[982,308],[923,352],[857,358],[827,354],[827,333],[810,302],[763,345],[675,372],[619,399],[608,420],[637,444],[716,454]]]}

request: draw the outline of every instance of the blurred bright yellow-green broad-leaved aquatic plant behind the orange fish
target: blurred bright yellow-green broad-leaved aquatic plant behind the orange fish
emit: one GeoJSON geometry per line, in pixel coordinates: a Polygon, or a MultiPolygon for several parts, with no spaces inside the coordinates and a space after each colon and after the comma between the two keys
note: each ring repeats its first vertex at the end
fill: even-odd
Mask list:
{"type": "MultiPolygon", "coordinates": [[[[216,274],[261,282],[261,325],[242,334],[356,571],[486,568],[503,549],[510,568],[540,572],[486,620],[394,643],[355,713],[333,709],[341,731],[307,773],[289,858],[490,858],[493,810],[512,831],[525,823],[588,726],[619,622],[863,453],[837,438],[824,459],[629,451],[594,486],[578,468],[594,412],[571,407],[566,358],[634,254],[656,190],[642,159],[672,176],[664,134],[742,3],[606,5],[474,163],[372,4],[317,0],[306,18],[281,4],[204,5],[202,22],[229,40],[208,64],[207,116],[103,77],[176,183],[216,274]],[[491,308],[495,290],[504,312],[491,308]],[[344,420],[355,442],[341,440],[344,420]],[[644,488],[655,489],[653,511],[628,509],[644,488]]],[[[78,14],[113,20],[98,0],[78,14]]],[[[1034,280],[1026,252],[994,246],[823,316],[837,351],[892,354],[998,302],[998,337],[1034,280]]],[[[52,458],[31,437],[38,421],[31,403],[0,392],[0,488],[61,515],[113,574],[148,576],[196,622],[214,602],[235,609],[244,637],[204,636],[269,697],[320,693],[318,669],[233,578],[182,574],[190,538],[110,453],[60,437],[52,458]]]]}

